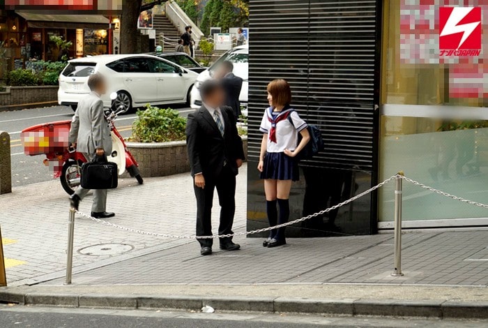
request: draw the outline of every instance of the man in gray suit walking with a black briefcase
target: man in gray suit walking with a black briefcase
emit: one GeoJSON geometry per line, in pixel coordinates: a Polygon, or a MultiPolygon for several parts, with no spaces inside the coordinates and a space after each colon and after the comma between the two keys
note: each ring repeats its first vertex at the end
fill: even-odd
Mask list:
{"type": "MultiPolygon", "coordinates": [[[[105,78],[100,74],[93,74],[88,79],[91,90],[89,96],[78,103],[73,121],[71,121],[70,142],[72,147],[83,153],[91,161],[95,156],[112,153],[112,136],[103,113],[103,101],[100,96],[107,93],[105,78]]],[[[89,192],[81,186],[70,198],[71,207],[78,210],[79,202],[89,192]]],[[[107,189],[93,191],[93,205],[91,216],[94,218],[111,218],[114,213],[107,213],[107,189]]]]}

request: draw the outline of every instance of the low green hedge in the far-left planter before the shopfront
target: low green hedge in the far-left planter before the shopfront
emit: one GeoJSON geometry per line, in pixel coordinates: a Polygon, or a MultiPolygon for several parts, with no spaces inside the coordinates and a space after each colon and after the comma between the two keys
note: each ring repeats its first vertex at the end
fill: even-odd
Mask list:
{"type": "Polygon", "coordinates": [[[66,67],[63,61],[31,61],[29,68],[12,70],[7,84],[12,87],[29,85],[57,85],[61,71],[66,67]]]}

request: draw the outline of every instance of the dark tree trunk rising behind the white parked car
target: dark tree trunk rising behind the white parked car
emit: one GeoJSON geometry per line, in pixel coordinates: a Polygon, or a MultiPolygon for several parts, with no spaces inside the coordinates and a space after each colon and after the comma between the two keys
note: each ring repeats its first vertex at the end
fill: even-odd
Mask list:
{"type": "Polygon", "coordinates": [[[137,52],[137,20],[141,13],[142,0],[124,0],[121,15],[121,54],[137,52]]]}

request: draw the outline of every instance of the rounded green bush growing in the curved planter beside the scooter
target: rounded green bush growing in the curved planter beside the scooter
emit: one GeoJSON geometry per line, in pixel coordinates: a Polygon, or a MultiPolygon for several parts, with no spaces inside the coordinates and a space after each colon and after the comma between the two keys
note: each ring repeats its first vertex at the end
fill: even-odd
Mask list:
{"type": "Polygon", "coordinates": [[[137,112],[131,140],[135,142],[169,142],[185,140],[186,119],[176,110],[146,105],[137,112]]]}

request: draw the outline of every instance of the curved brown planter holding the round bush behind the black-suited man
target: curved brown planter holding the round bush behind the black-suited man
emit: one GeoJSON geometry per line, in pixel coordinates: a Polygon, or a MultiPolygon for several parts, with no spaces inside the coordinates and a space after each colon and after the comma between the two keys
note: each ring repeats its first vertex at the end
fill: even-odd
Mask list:
{"type": "MultiPolygon", "coordinates": [[[[247,154],[247,136],[243,137],[244,154],[247,154]]],[[[127,142],[128,150],[139,163],[142,177],[166,177],[190,172],[185,141],[127,142]]]]}

